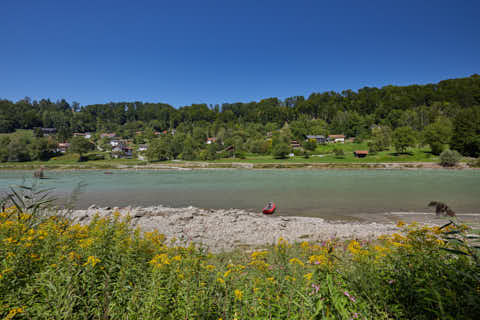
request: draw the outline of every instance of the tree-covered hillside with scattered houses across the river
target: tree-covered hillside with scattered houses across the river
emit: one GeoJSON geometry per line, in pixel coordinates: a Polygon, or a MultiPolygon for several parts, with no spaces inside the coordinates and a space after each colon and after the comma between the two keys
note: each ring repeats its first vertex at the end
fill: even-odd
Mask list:
{"type": "MultiPolygon", "coordinates": [[[[99,160],[309,158],[329,150],[325,142],[335,141],[335,150],[329,150],[335,157],[326,158],[332,162],[344,162],[355,150],[368,151],[365,162],[403,161],[418,149],[435,157],[446,149],[478,157],[479,97],[480,77],[472,75],[437,84],[178,109],[163,103],[82,107],[65,100],[0,100],[0,162],[47,161],[64,152],[89,160],[83,155],[93,150],[99,160]],[[343,140],[348,147],[338,143],[343,140]],[[393,159],[382,160],[382,152],[393,159]]],[[[434,159],[424,155],[409,159],[434,159]]]]}

